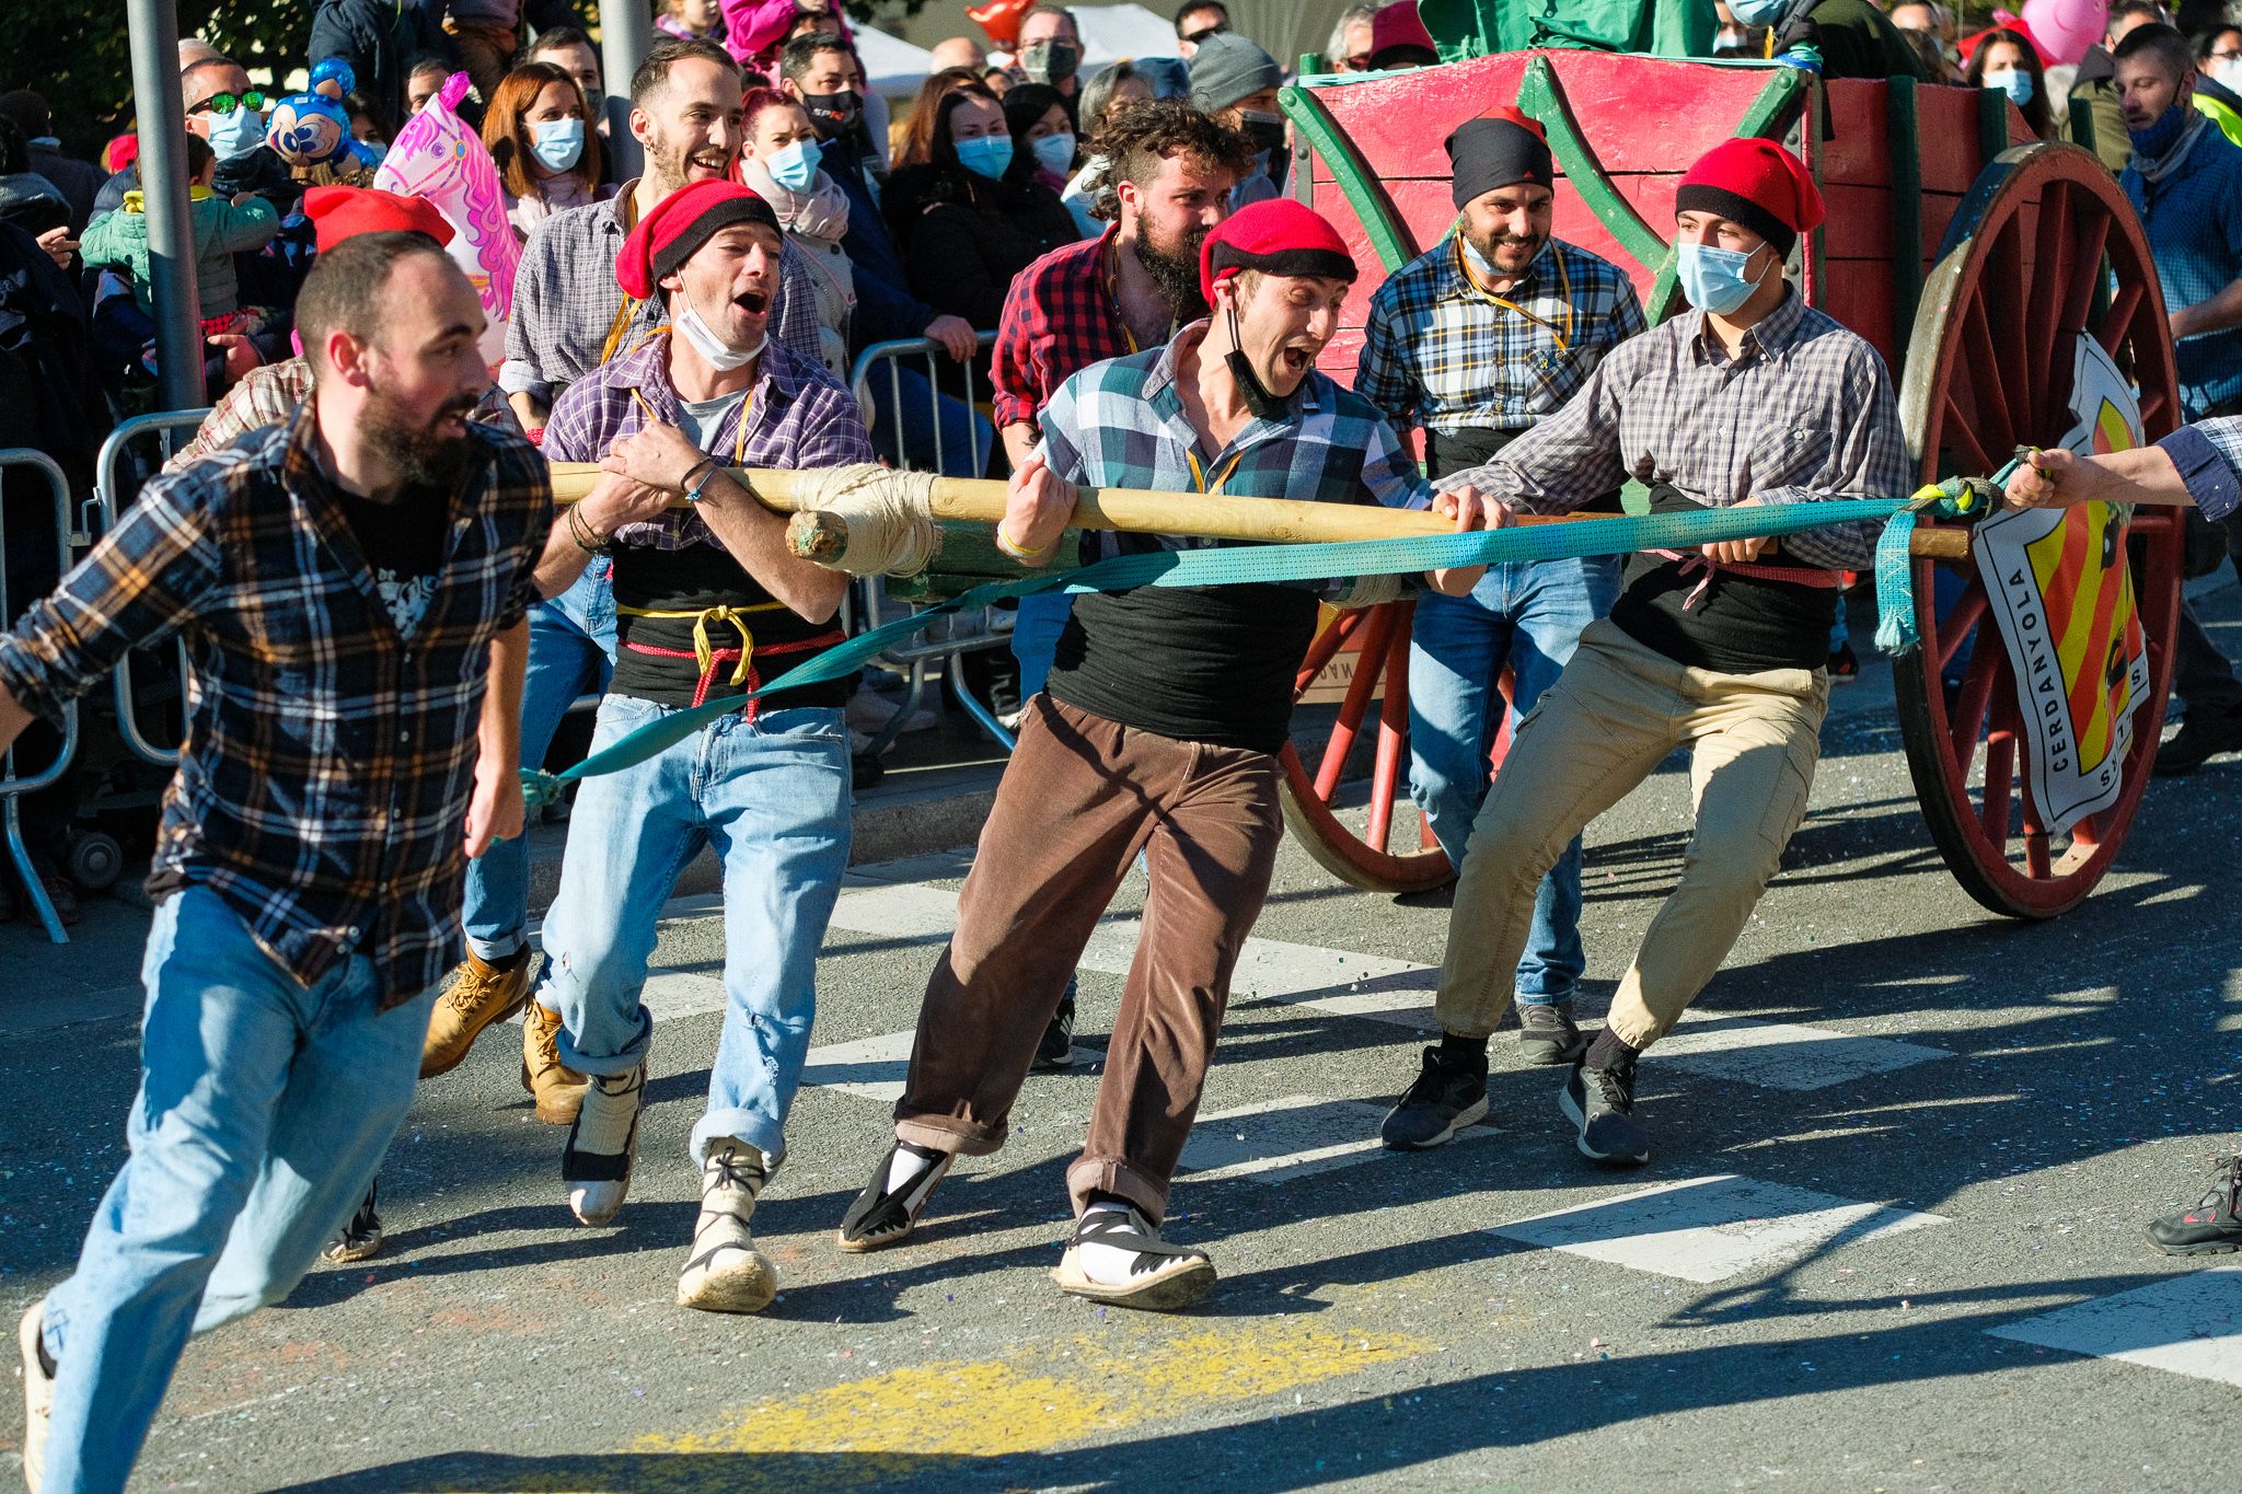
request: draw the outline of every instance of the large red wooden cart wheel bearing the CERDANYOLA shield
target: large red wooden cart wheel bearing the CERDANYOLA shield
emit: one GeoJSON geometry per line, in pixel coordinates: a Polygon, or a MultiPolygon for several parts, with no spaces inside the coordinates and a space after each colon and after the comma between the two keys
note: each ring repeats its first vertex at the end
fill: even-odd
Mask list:
{"type": "MultiPolygon", "coordinates": [[[[1924,284],[1899,408],[1924,482],[1989,477],[2018,446],[2076,423],[2074,338],[2092,336],[2134,383],[2148,439],[2179,423],[2179,379],[2148,237],[2094,155],[2020,146],[1984,168],[1924,284]]],[[[2049,835],[2031,797],[2016,674],[1966,560],[1915,560],[1919,652],[1894,663],[1899,728],[1930,838],[1998,914],[2051,918],[2085,898],[2132,824],[2164,721],[2179,623],[2177,508],[2139,508],[2128,540],[2150,690],[2134,715],[2116,804],[2049,835]],[[1939,618],[1937,571],[1966,578],[1939,618]],[[1948,701],[1942,685],[1957,679],[1948,701]]],[[[1951,594],[1948,594],[1951,596],[1951,594]]]]}

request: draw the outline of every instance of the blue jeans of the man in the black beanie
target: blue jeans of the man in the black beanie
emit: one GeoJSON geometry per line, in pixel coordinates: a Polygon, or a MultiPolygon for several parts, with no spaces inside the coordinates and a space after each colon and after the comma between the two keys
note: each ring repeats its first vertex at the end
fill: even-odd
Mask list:
{"type": "MultiPolygon", "coordinates": [[[[1511,670],[1516,728],[1556,683],[1581,629],[1610,614],[1616,598],[1619,562],[1605,558],[1495,564],[1471,596],[1424,591],[1417,598],[1408,645],[1408,791],[1451,865],[1464,865],[1471,822],[1486,802],[1502,667],[1511,670]]],[[[1527,1006],[1569,1001],[1585,963],[1581,840],[1574,838],[1534,898],[1518,999],[1527,1006]]]]}

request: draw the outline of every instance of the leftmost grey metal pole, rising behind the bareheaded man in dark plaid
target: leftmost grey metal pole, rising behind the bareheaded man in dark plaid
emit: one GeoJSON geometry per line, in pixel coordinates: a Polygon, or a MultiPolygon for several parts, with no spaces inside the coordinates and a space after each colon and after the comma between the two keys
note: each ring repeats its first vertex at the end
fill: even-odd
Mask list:
{"type": "Polygon", "coordinates": [[[186,217],[186,101],[179,94],[179,16],[173,0],[126,0],[132,27],[132,105],[139,119],[141,202],[148,206],[148,293],[155,300],[157,403],[197,410],[202,289],[195,226],[186,217]]]}

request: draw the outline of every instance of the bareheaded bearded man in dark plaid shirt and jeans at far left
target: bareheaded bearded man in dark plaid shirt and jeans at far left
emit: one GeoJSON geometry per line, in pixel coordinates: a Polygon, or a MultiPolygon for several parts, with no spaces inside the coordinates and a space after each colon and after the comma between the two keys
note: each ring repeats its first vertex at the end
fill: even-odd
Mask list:
{"type": "Polygon", "coordinates": [[[520,833],[545,461],[469,423],[482,305],[424,233],[296,302],[309,401],[150,482],[0,636],[0,748],[170,632],[188,723],[148,889],[132,1147],[22,1317],[25,1476],[121,1490],[191,1330],[296,1286],[413,1100],[460,874],[520,833]]]}

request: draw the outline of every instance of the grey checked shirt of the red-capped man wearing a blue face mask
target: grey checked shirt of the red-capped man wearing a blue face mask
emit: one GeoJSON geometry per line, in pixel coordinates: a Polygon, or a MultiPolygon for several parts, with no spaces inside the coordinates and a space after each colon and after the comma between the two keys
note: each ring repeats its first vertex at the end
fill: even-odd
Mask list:
{"type": "MultiPolygon", "coordinates": [[[[1673,484],[1706,508],[1917,488],[1883,358],[1796,291],[1744,334],[1735,358],[1704,311],[1621,343],[1563,410],[1439,486],[1569,513],[1628,477],[1673,484]]],[[[1834,524],[1787,535],[1782,551],[1812,567],[1865,569],[1881,529],[1834,524]]]]}

